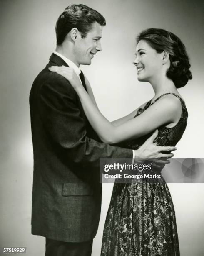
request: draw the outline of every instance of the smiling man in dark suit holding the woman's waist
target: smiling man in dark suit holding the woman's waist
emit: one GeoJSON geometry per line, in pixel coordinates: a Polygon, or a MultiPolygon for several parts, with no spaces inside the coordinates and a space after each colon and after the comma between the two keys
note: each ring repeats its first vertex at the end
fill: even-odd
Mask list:
{"type": "MultiPolygon", "coordinates": [[[[33,82],[30,113],[34,153],[32,234],[46,237],[46,256],[90,256],[100,219],[100,158],[171,157],[159,151],[156,134],[137,151],[100,143],[70,83],[49,71],[69,66],[80,76],[102,51],[104,17],[85,5],[70,5],[56,24],[57,47],[33,82]]],[[[90,92],[91,93],[91,92],[90,92]]]]}

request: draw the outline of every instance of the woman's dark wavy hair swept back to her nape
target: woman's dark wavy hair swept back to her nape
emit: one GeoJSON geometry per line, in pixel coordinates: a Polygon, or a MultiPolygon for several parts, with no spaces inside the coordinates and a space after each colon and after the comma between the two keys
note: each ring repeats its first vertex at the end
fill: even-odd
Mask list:
{"type": "Polygon", "coordinates": [[[137,43],[145,40],[158,53],[167,51],[171,62],[167,77],[172,79],[177,88],[187,84],[192,79],[191,67],[186,47],[178,36],[161,28],[148,28],[137,35],[137,43]]]}

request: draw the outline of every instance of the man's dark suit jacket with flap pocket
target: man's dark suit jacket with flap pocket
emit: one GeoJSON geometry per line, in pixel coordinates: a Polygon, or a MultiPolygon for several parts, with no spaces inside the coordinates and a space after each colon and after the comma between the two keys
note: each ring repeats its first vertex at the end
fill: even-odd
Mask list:
{"type": "Polygon", "coordinates": [[[32,234],[82,242],[94,238],[100,219],[99,158],[132,158],[132,150],[97,142],[75,90],[48,70],[61,65],[52,54],[30,92],[32,234]]]}

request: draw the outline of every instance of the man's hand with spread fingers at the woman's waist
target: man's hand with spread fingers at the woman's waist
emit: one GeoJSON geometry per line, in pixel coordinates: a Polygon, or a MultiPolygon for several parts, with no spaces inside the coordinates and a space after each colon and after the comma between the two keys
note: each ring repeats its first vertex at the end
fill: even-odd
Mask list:
{"type": "Polygon", "coordinates": [[[142,146],[135,150],[135,158],[137,159],[168,159],[174,156],[172,153],[164,153],[164,151],[173,151],[176,150],[176,147],[170,147],[170,146],[157,146],[154,144],[155,138],[157,138],[158,130],[156,130],[150,138],[147,139],[147,141],[142,144],[142,146]]]}

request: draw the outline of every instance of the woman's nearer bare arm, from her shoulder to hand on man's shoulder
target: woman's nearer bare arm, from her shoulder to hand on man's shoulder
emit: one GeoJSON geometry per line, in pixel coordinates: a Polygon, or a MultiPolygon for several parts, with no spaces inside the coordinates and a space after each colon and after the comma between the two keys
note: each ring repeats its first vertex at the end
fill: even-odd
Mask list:
{"type": "Polygon", "coordinates": [[[176,123],[181,115],[180,100],[174,95],[165,95],[142,114],[127,120],[127,122],[121,125],[114,126],[100,113],[73,69],[53,67],[50,70],[61,74],[70,81],[80,97],[90,124],[104,143],[114,144],[141,137],[159,128],[161,125],[176,123]]]}

